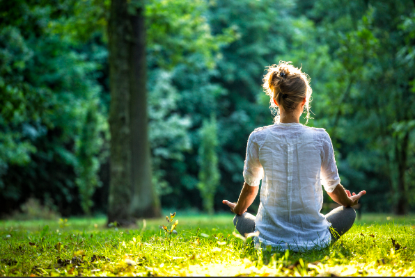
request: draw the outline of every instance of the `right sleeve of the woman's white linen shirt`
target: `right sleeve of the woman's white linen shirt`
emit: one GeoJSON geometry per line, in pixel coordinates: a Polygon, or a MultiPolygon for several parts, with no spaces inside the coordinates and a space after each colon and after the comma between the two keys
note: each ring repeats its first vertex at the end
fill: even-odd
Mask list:
{"type": "Polygon", "coordinates": [[[322,181],[324,190],[331,193],[334,188],[340,183],[336,160],[334,159],[333,144],[329,133],[324,131],[324,138],[322,140],[322,165],[321,165],[322,181]]]}

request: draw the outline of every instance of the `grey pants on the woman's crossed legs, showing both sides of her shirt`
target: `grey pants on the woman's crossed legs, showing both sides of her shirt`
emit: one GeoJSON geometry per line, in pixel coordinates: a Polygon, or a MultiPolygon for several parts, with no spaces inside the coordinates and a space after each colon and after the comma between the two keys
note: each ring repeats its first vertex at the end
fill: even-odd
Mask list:
{"type": "MultiPolygon", "coordinates": [[[[354,220],[356,219],[356,211],[353,208],[339,206],[325,216],[327,221],[331,223],[331,240],[335,241],[352,228],[354,220]]],[[[235,215],[233,225],[242,236],[253,233],[255,231],[255,216],[251,213],[235,215]]]]}

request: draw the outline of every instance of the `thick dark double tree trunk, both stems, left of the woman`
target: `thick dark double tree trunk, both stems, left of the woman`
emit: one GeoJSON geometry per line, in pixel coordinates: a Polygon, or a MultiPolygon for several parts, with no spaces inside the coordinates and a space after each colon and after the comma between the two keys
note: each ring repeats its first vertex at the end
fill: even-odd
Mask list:
{"type": "Polygon", "coordinates": [[[111,1],[109,68],[111,170],[108,222],[134,223],[159,215],[151,183],[146,101],[146,36],[142,10],[111,1]]]}

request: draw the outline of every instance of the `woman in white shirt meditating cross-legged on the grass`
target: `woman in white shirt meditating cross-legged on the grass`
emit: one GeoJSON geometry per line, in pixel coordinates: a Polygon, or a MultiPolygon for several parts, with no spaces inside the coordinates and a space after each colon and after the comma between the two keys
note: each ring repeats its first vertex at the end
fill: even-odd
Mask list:
{"type": "Polygon", "coordinates": [[[246,149],[244,187],[237,203],[223,203],[236,213],[234,224],[240,234],[256,231],[263,245],[281,250],[304,251],[327,246],[352,227],[353,208],[366,194],[350,194],[340,185],[329,134],[299,124],[309,117],[309,79],[290,63],[273,65],[264,84],[271,105],[277,109],[275,124],[251,133],[246,149]],[[322,182],[331,199],[342,205],[322,215],[322,182]],[[246,213],[258,194],[256,217],[246,213]],[[330,228],[331,226],[331,228],[330,228]]]}

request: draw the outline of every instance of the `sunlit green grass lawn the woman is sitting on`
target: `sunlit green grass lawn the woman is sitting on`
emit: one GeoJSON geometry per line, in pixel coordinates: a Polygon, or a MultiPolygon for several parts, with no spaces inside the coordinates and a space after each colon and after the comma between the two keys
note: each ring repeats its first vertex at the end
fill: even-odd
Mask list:
{"type": "Polygon", "coordinates": [[[414,217],[365,214],[324,250],[276,254],[233,236],[230,214],[174,220],[171,239],[159,229],[165,218],[134,229],[106,228],[104,217],[0,221],[0,275],[415,275],[414,217]]]}

